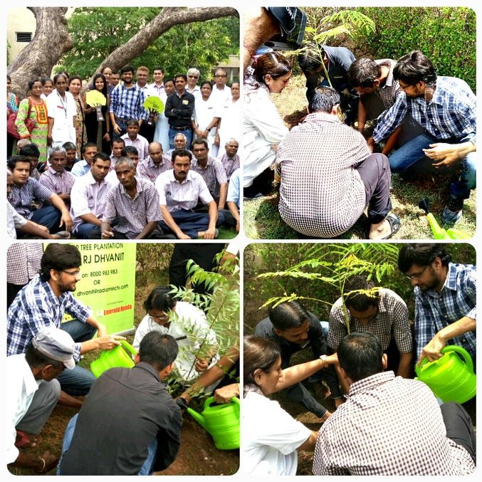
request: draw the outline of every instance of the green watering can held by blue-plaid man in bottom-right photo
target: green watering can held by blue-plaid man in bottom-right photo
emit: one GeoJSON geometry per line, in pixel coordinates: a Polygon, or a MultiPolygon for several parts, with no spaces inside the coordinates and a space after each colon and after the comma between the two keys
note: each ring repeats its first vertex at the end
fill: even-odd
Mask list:
{"type": "Polygon", "coordinates": [[[426,358],[415,365],[416,377],[427,384],[443,402],[467,402],[476,395],[476,374],[471,356],[462,347],[449,345],[442,348],[443,357],[434,362],[426,358]],[[459,356],[461,355],[461,357],[459,356]]]}

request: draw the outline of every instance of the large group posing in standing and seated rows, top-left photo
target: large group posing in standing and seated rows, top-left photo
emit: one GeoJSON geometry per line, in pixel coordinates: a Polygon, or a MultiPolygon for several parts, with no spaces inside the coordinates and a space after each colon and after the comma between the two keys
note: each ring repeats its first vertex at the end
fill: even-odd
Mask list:
{"type": "Polygon", "coordinates": [[[222,68],[201,85],[196,68],[164,79],[156,67],[152,84],[149,68],[137,68],[136,82],[134,73],[130,65],[119,75],[104,68],[84,95],[76,75],[33,79],[19,105],[7,90],[20,137],[7,161],[11,239],[239,231],[239,83],[229,88],[222,68]]]}

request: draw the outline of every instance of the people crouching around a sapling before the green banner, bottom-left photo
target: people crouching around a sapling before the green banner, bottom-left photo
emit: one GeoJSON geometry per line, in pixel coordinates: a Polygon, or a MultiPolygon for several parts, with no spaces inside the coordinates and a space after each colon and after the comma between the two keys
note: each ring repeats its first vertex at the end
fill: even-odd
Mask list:
{"type": "Polygon", "coordinates": [[[177,456],[182,413],[192,397],[216,386],[216,402],[239,396],[239,384],[221,380],[239,350],[232,347],[220,357],[205,313],[159,286],[147,296],[147,314],[135,332],[135,366],[96,379],[78,365],[82,355],[111,350],[125,337],[109,335],[93,310],[74,298],[81,261],[75,246],[49,243],[36,259],[39,273],[9,305],[7,463],[37,473],[58,466],[58,475],[160,471],[177,456]],[[64,315],[72,319],[63,322],[64,315]],[[184,387],[175,400],[164,385],[169,377],[184,387]],[[66,427],[62,454],[33,454],[29,449],[58,402],[78,410],[66,427]]]}

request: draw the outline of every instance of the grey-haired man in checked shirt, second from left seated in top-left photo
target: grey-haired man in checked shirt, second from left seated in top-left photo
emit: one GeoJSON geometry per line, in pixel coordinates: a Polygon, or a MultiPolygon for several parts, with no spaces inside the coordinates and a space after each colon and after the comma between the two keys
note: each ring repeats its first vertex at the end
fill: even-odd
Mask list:
{"type": "Polygon", "coordinates": [[[75,177],[66,170],[67,152],[63,147],[51,147],[48,150],[49,167],[42,172],[38,182],[51,191],[70,208],[70,191],[75,177]]]}

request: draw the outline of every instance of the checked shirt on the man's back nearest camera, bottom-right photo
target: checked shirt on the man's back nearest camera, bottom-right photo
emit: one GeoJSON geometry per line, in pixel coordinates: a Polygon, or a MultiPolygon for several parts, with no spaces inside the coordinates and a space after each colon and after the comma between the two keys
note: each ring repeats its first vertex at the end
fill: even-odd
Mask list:
{"type": "Polygon", "coordinates": [[[466,449],[446,436],[439,404],[426,384],[381,372],[355,382],[347,401],[321,426],[316,476],[468,475],[466,449]]]}

